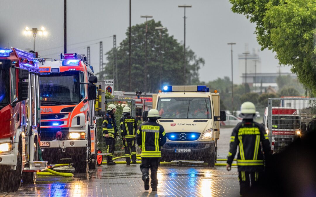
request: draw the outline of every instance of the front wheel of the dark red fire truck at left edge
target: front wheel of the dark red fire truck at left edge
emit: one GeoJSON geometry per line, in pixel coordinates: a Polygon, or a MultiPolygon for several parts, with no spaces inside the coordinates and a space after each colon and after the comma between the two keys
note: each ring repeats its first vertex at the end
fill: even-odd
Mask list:
{"type": "Polygon", "coordinates": [[[0,188],[3,192],[16,192],[21,183],[22,178],[22,156],[20,151],[18,151],[16,170],[7,171],[3,174],[3,182],[0,183],[0,188]]]}

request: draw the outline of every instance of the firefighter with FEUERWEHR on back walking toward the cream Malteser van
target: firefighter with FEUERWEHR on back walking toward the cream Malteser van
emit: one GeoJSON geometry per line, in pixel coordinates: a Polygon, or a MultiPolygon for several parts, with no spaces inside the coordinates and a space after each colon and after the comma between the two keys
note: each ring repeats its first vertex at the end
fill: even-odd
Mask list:
{"type": "Polygon", "coordinates": [[[161,158],[161,147],[166,143],[166,131],[162,125],[159,125],[157,119],[160,119],[159,112],[151,109],[148,112],[148,122],[139,126],[136,135],[138,146],[142,150],[142,164],[140,170],[143,173],[143,182],[145,190],[149,189],[149,168],[151,171],[151,188],[157,191],[157,170],[159,159],[161,158]]]}

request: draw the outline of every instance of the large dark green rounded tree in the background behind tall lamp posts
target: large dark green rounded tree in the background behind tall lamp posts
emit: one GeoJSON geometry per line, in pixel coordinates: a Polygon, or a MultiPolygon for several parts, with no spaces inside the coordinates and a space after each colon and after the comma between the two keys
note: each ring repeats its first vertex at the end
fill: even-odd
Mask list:
{"type": "MultiPolygon", "coordinates": [[[[145,65],[145,23],[131,27],[131,64],[132,64],[132,89],[133,91],[144,91],[144,78],[147,77],[147,89],[150,92],[157,92],[162,85],[183,85],[183,45],[167,30],[162,31],[160,39],[159,31],[155,27],[162,26],[161,22],[149,20],[148,22],[148,55],[147,74],[144,76],[145,65]],[[162,55],[162,56],[161,56],[162,55]],[[162,57],[162,64],[161,62],[162,57]],[[160,66],[162,65],[162,72],[160,66]]],[[[129,39],[128,29],[126,38],[119,44],[117,49],[118,86],[119,90],[129,90],[129,39]]],[[[105,66],[105,76],[113,77],[114,50],[106,53],[107,63],[105,66]]],[[[204,66],[204,59],[197,57],[195,53],[186,49],[186,85],[199,84],[198,71],[204,66]]]]}

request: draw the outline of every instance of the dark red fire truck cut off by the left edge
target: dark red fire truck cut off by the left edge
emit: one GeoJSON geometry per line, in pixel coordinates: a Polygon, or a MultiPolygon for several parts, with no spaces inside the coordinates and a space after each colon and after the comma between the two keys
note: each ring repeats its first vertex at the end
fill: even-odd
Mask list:
{"type": "Polygon", "coordinates": [[[46,170],[38,161],[39,67],[33,53],[0,49],[0,190],[16,191],[46,170]]]}

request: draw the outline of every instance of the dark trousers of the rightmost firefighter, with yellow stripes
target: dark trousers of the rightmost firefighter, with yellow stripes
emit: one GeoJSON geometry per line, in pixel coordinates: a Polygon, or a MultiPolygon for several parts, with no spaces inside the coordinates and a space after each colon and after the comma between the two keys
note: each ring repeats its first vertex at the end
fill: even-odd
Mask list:
{"type": "Polygon", "coordinates": [[[239,184],[240,184],[240,195],[246,195],[251,187],[257,187],[259,183],[259,177],[262,176],[262,172],[246,172],[240,171],[238,174],[239,184]],[[250,178],[249,178],[250,176],[250,178]]]}

